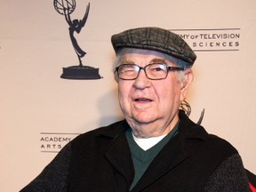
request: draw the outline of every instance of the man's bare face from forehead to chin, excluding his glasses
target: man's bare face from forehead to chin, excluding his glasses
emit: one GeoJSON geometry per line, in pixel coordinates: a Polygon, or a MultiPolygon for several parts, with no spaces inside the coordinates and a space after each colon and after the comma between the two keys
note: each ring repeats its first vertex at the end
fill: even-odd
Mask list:
{"type": "MultiPolygon", "coordinates": [[[[145,67],[149,63],[162,62],[174,66],[164,59],[164,54],[150,50],[124,48],[120,64],[137,64],[145,67]]],[[[119,103],[124,117],[137,137],[163,135],[178,122],[180,101],[186,97],[184,84],[178,82],[177,72],[169,71],[161,80],[150,80],[144,70],[135,80],[118,81],[119,103]]]]}

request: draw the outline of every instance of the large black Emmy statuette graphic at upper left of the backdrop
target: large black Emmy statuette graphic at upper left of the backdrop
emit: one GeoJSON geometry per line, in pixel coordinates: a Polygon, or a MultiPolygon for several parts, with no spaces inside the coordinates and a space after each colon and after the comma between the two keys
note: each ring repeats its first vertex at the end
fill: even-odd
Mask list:
{"type": "Polygon", "coordinates": [[[86,11],[82,20],[71,20],[70,18],[70,14],[76,9],[75,0],[53,0],[53,4],[55,10],[61,15],[64,15],[68,22],[69,36],[79,60],[79,64],[77,66],[63,68],[63,73],[60,77],[65,79],[100,79],[101,76],[99,75],[99,68],[92,68],[83,65],[81,59],[84,57],[86,52],[84,52],[78,45],[76,37],[74,36],[74,33],[76,32],[79,34],[85,25],[90,11],[90,3],[86,6],[86,11]]]}

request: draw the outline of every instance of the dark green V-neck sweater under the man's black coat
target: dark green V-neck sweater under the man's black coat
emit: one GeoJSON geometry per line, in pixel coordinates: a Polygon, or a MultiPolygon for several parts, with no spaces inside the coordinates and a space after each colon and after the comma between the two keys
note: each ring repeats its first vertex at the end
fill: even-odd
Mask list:
{"type": "Polygon", "coordinates": [[[155,146],[144,151],[132,138],[132,129],[126,130],[126,138],[129,143],[129,147],[132,154],[132,163],[134,166],[134,178],[130,190],[134,188],[137,182],[140,180],[144,172],[148,169],[149,164],[154,160],[157,154],[164,148],[164,145],[172,139],[172,137],[177,133],[179,128],[179,123],[174,126],[171,132],[169,132],[163,140],[160,140],[155,146]]]}

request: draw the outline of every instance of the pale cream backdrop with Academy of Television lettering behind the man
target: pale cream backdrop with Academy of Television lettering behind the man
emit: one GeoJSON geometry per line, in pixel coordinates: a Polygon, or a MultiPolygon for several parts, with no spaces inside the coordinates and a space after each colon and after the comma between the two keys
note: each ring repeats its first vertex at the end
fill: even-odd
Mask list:
{"type": "MultiPolygon", "coordinates": [[[[76,0],[71,18],[82,19],[88,3],[76,0]]],[[[19,191],[78,133],[122,118],[110,36],[142,26],[169,28],[195,49],[190,117],[197,121],[204,108],[205,129],[232,143],[244,166],[255,173],[256,2],[90,3],[88,20],[76,39],[87,52],[84,65],[100,68],[103,78],[76,81],[60,79],[62,68],[78,61],[68,24],[53,1],[0,2],[1,191],[19,191]]]]}

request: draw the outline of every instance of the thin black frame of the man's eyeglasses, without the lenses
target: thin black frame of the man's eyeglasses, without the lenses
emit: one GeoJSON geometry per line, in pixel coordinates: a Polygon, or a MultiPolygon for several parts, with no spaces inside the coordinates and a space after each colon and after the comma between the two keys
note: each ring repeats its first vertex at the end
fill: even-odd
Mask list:
{"type": "Polygon", "coordinates": [[[166,77],[168,76],[169,71],[177,71],[177,70],[180,71],[180,70],[186,70],[187,68],[171,67],[171,66],[167,66],[165,63],[149,63],[149,64],[146,65],[145,67],[140,67],[140,66],[137,65],[137,64],[128,64],[128,63],[124,63],[124,64],[121,64],[121,65],[119,65],[118,67],[116,67],[115,72],[116,72],[116,74],[117,74],[117,76],[118,76],[119,79],[122,79],[122,80],[135,80],[135,79],[138,78],[138,76],[140,75],[140,70],[141,70],[141,69],[144,70],[145,75],[147,76],[148,79],[150,79],[150,80],[161,80],[161,79],[164,79],[164,78],[166,78],[166,77]],[[162,77],[162,78],[149,78],[149,77],[148,77],[148,74],[147,74],[147,72],[146,72],[146,68],[147,68],[148,66],[155,65],[155,64],[162,65],[162,66],[164,66],[164,67],[166,68],[166,71],[167,71],[166,76],[164,76],[164,77],[162,77]],[[119,73],[118,73],[118,69],[119,69],[120,67],[124,66],[124,65],[127,65],[127,66],[129,65],[129,66],[138,67],[138,68],[139,68],[139,71],[138,71],[138,73],[137,73],[137,76],[134,77],[134,78],[123,78],[123,77],[120,77],[120,75],[119,75],[119,73]]]}

